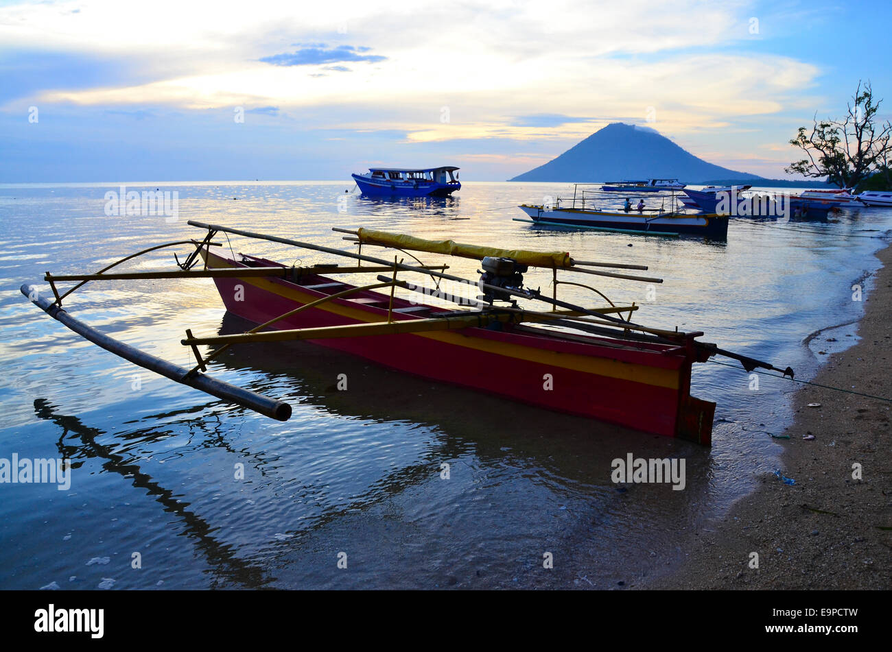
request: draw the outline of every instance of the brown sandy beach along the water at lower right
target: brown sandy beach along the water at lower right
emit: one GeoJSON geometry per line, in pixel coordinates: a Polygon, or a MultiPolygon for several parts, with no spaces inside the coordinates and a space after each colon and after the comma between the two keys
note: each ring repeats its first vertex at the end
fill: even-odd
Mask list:
{"type": "MultiPolygon", "coordinates": [[[[859,340],[829,355],[812,381],[892,397],[892,246],[875,256],[882,267],[864,296],[859,340]]],[[[888,589],[892,403],[803,385],[791,407],[789,439],[777,441],[780,473],[796,484],[756,477],[752,493],[688,537],[681,566],[638,588],[888,589]]]]}

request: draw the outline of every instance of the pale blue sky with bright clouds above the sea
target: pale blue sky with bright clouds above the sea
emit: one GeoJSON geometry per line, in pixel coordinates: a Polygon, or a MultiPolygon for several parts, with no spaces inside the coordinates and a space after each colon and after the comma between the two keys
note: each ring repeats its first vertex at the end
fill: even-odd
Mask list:
{"type": "Polygon", "coordinates": [[[892,3],[0,0],[0,183],[503,181],[612,122],[789,178],[870,80],[892,3]]]}

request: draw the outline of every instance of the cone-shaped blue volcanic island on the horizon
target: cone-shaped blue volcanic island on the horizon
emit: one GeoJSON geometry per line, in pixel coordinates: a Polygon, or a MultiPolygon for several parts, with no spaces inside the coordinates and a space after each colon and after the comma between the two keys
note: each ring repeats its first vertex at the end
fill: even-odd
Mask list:
{"type": "Polygon", "coordinates": [[[760,186],[821,186],[815,181],[766,179],[708,163],[648,126],[615,122],[581,143],[508,181],[599,183],[624,179],[678,179],[683,183],[749,183],[760,186]]]}

